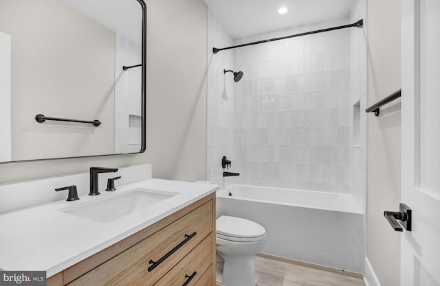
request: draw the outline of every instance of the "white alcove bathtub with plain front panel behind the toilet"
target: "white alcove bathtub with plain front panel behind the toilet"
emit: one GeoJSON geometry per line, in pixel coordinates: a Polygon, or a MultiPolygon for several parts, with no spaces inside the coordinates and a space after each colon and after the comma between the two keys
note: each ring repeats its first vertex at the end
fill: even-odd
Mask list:
{"type": "Polygon", "coordinates": [[[217,191],[219,215],[264,226],[264,253],[363,272],[364,219],[351,195],[234,184],[217,191]]]}

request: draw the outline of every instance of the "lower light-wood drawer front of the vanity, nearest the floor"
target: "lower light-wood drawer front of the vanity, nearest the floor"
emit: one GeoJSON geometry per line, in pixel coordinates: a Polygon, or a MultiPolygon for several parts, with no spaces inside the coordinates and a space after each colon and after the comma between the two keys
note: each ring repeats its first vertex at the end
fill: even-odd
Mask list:
{"type": "MultiPolygon", "coordinates": [[[[177,263],[155,286],[194,286],[211,264],[212,233],[206,239],[203,239],[190,254],[177,263]]],[[[141,285],[138,284],[137,286],[141,285]]],[[[208,285],[210,284],[204,286],[208,285]]]]}

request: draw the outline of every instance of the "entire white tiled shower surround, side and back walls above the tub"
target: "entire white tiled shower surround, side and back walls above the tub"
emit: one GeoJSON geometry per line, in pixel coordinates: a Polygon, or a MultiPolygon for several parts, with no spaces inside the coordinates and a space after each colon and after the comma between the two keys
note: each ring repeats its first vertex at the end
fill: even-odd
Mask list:
{"type": "MultiPolygon", "coordinates": [[[[212,47],[232,43],[212,13],[208,19],[211,57],[212,47]]],[[[347,18],[316,23],[236,39],[233,44],[350,22],[347,18]]],[[[234,49],[233,61],[230,51],[208,58],[208,180],[220,187],[243,183],[351,192],[351,180],[358,174],[350,167],[362,163],[361,154],[351,151],[353,101],[359,101],[361,93],[351,91],[361,84],[364,72],[358,61],[359,82],[351,82],[351,47],[356,45],[351,29],[358,28],[234,49]],[[235,71],[244,73],[240,82],[223,75],[232,62],[235,71]],[[351,160],[352,154],[358,159],[351,160]],[[221,177],[223,155],[232,160],[230,171],[241,176],[221,177]]],[[[362,29],[358,32],[363,35],[362,29]]]]}

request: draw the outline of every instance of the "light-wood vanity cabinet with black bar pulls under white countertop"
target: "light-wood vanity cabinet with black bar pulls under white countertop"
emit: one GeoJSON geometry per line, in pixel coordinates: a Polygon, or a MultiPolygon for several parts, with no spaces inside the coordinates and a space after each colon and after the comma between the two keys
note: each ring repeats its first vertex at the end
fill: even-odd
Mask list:
{"type": "Polygon", "coordinates": [[[47,285],[214,286],[214,230],[215,193],[48,278],[47,285]]]}

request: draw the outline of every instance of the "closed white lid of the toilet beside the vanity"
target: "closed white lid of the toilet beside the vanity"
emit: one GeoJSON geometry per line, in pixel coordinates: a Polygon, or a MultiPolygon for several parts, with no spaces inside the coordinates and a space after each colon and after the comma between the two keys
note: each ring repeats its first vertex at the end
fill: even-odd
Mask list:
{"type": "Polygon", "coordinates": [[[222,215],[217,219],[216,233],[236,238],[256,238],[266,234],[265,228],[248,219],[222,215]]]}

